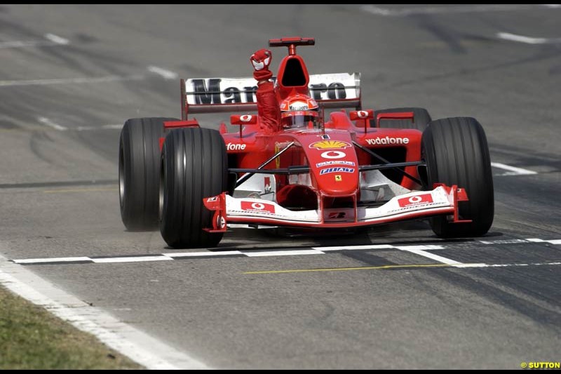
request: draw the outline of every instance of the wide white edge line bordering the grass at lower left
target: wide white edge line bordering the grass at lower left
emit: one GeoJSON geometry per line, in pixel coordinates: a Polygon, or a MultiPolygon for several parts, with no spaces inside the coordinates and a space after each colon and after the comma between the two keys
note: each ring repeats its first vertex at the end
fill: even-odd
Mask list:
{"type": "Polygon", "coordinates": [[[177,351],[147,333],[119,321],[102,309],[91,307],[21,265],[8,262],[1,255],[0,284],[22,298],[48,309],[76,328],[95,335],[111,349],[121,352],[148,369],[209,368],[189,354],[177,351]]]}

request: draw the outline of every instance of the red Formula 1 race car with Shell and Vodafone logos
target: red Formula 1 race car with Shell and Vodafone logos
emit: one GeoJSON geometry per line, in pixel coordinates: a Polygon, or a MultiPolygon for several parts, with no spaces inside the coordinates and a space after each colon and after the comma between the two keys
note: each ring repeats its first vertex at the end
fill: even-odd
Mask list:
{"type": "Polygon", "coordinates": [[[468,117],[431,120],[426,109],[363,109],[360,74],[309,75],[286,46],[276,92],[310,95],[318,124],[260,131],[255,79],[181,80],[182,119],[129,119],[121,131],[121,217],[160,228],[174,248],[217,246],[235,227],[337,229],[428,218],[440,237],[480,236],[494,215],[489,149],[468,117]],[[342,108],[351,108],[346,110],[342,108]],[[243,112],[229,133],[194,113],[243,112]]]}

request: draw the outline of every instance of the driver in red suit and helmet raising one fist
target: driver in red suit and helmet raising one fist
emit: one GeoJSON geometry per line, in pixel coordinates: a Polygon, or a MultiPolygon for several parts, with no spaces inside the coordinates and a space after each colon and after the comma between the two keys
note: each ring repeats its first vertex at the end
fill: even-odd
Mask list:
{"type": "Polygon", "coordinates": [[[304,126],[316,127],[318,123],[318,103],[313,98],[297,93],[278,105],[275,87],[270,80],[273,73],[269,70],[273,54],[268,49],[253,53],[250,62],[253,77],[257,80],[257,112],[264,133],[276,133],[283,128],[304,126]]]}

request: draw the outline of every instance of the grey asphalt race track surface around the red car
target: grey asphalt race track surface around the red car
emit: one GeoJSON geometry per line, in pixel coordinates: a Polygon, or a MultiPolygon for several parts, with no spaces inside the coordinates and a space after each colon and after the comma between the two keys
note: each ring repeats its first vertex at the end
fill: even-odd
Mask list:
{"type": "MultiPolygon", "coordinates": [[[[0,252],[174,253],[159,232],[121,223],[119,126],[180,116],[178,77],[250,76],[269,38],[313,36],[299,48],[309,71],[362,72],[364,107],[475,116],[495,165],[535,172],[493,168],[487,236],[443,241],[422,221],[335,236],[244,230],[219,248],[240,255],[27,269],[213,368],[559,361],[560,22],[555,6],[2,5],[0,252]]],[[[285,51],[273,53],[276,68],[285,51]]]]}

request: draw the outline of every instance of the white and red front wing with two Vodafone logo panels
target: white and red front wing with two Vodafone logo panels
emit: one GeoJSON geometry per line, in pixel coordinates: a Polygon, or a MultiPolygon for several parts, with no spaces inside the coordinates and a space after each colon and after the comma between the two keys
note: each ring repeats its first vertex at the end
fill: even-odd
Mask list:
{"type": "Polygon", "coordinates": [[[328,208],[313,211],[291,211],[273,201],[234,198],[225,193],[203,199],[214,211],[209,232],[225,232],[228,223],[291,227],[358,227],[387,222],[423,218],[432,215],[451,215],[453,222],[460,220],[458,202],[467,201],[465,189],[435,184],[432,191],[417,191],[395,196],[377,207],[328,208]]]}

